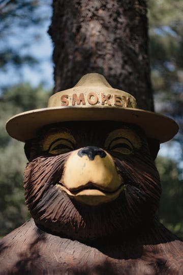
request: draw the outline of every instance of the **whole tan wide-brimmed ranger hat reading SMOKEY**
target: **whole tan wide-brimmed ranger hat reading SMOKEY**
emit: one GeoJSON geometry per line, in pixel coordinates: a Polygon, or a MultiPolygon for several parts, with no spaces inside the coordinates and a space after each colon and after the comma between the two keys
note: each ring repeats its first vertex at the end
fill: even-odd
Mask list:
{"type": "Polygon", "coordinates": [[[18,114],[8,120],[7,132],[25,142],[36,137],[42,127],[66,121],[121,121],[140,126],[151,139],[166,142],[178,125],[166,116],[136,108],[135,98],[113,89],[98,73],[84,75],[71,89],[57,92],[48,107],[18,114]]]}

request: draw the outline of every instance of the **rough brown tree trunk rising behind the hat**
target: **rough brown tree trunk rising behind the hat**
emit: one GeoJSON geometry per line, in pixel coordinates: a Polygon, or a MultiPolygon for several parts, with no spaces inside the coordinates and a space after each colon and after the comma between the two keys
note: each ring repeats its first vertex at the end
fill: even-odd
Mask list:
{"type": "Polygon", "coordinates": [[[54,93],[89,72],[153,111],[145,0],[53,0],[54,93]]]}

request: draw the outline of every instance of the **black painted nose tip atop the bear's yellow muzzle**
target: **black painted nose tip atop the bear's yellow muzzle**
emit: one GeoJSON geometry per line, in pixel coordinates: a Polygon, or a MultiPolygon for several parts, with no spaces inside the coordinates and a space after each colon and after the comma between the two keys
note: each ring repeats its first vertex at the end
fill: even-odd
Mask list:
{"type": "Polygon", "coordinates": [[[97,146],[86,146],[78,151],[78,156],[83,157],[84,155],[88,156],[90,160],[94,160],[95,156],[98,155],[102,158],[106,156],[106,153],[97,146]]]}

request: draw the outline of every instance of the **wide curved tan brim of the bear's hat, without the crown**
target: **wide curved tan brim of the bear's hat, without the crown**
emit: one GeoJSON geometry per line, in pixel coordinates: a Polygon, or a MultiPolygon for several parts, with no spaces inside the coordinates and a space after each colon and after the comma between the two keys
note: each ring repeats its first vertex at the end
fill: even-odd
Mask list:
{"type": "Polygon", "coordinates": [[[42,127],[66,121],[121,121],[140,126],[151,139],[160,143],[171,140],[178,125],[166,116],[135,108],[116,107],[50,107],[18,114],[8,120],[7,132],[14,139],[25,142],[36,137],[42,127]]]}

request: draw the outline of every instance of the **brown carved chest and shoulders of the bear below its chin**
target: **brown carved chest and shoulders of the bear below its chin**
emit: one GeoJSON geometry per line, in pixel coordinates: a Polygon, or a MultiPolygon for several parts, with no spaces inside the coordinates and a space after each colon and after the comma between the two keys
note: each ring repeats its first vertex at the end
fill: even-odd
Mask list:
{"type": "Polygon", "coordinates": [[[146,249],[133,244],[106,244],[105,248],[97,249],[52,235],[50,239],[30,241],[9,251],[0,274],[181,274],[171,264],[171,257],[168,259],[167,254],[163,255],[153,245],[146,249]]]}

